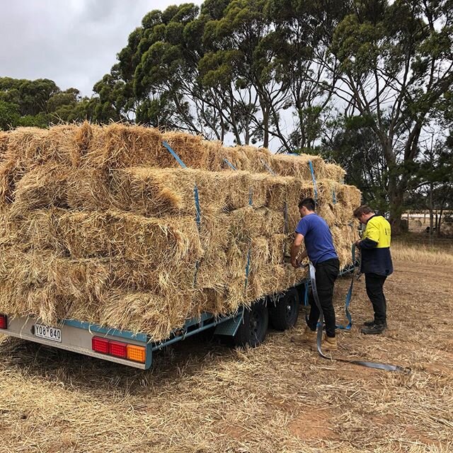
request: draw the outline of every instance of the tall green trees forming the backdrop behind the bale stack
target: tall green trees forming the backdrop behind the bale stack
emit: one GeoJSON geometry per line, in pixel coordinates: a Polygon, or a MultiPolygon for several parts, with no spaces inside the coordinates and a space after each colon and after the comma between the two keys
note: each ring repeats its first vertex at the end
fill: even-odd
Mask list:
{"type": "Polygon", "coordinates": [[[144,16],[92,98],[0,79],[0,127],[114,120],[319,153],[398,229],[415,193],[451,179],[452,37],[453,0],[169,6],[144,16]]]}

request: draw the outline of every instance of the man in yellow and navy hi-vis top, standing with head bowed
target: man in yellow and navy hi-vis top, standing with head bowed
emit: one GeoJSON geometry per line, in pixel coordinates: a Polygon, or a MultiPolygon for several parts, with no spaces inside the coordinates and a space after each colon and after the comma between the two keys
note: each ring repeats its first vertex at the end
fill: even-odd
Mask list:
{"type": "Polygon", "coordinates": [[[387,326],[384,282],[394,271],[390,254],[391,228],[384,217],[374,214],[367,205],[357,207],[354,217],[366,225],[362,239],[355,245],[362,253],[360,272],[365,274],[365,287],[374,309],[374,319],[365,322],[362,333],[379,334],[387,326]]]}

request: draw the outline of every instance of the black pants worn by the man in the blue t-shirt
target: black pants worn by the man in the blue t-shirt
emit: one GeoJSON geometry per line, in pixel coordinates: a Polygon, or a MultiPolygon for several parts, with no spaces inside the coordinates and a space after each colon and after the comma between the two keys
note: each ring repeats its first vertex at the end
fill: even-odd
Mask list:
{"type": "MultiPolygon", "coordinates": [[[[333,309],[333,285],[337,280],[340,271],[340,261],[331,259],[317,263],[316,269],[316,289],[318,290],[319,303],[323,309],[324,321],[326,322],[326,336],[335,337],[335,310],[333,309]]],[[[314,302],[313,294],[310,293],[309,301],[311,305],[309,315],[309,328],[316,330],[319,321],[319,309],[314,302]]]]}

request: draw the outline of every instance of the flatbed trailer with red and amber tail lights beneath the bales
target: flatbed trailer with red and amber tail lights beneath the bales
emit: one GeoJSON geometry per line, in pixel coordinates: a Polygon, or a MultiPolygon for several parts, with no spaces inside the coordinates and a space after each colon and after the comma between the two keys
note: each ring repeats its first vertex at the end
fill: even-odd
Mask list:
{"type": "Polygon", "coordinates": [[[212,329],[216,337],[229,338],[236,346],[250,345],[254,348],[260,345],[265,340],[269,325],[278,331],[285,331],[297,323],[303,290],[304,284],[298,285],[284,294],[260,299],[250,307],[241,306],[236,313],[228,316],[203,313],[200,318],[188,319],[183,328],[173,331],[167,340],[159,343],[153,342],[146,333],[133,333],[75,319],[64,319],[55,326],[47,326],[38,319],[10,319],[5,314],[0,314],[0,334],[121,365],[149,369],[154,352],[208,329],[212,329]]]}

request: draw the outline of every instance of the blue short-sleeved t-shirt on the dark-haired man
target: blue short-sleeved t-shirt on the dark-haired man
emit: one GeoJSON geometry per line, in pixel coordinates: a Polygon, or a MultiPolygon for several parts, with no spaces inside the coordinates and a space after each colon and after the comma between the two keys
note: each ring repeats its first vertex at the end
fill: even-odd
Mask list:
{"type": "Polygon", "coordinates": [[[311,263],[322,263],[332,258],[338,258],[333,246],[331,230],[326,221],[318,214],[309,214],[299,220],[296,233],[302,234],[305,248],[311,263]]]}

